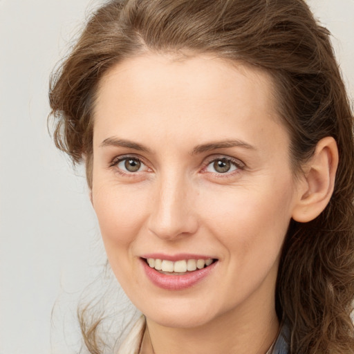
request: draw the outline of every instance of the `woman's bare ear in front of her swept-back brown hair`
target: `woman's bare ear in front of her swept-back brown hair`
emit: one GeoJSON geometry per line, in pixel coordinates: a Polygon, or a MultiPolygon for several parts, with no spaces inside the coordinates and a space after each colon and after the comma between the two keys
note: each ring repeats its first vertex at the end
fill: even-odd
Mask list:
{"type": "Polygon", "coordinates": [[[338,148],[335,139],[328,136],[319,140],[313,157],[304,166],[304,176],[297,189],[299,196],[292,210],[292,218],[307,223],[322,213],[335,186],[338,166],[338,148]]]}

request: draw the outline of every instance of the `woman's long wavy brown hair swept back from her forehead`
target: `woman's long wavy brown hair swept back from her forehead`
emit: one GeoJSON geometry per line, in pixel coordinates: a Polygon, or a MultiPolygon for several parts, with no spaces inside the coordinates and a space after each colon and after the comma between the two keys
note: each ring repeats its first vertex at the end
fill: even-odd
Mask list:
{"type": "MultiPolygon", "coordinates": [[[[290,353],[354,353],[353,115],[328,30],[303,0],[106,3],[50,82],[55,143],[73,162],[85,156],[90,186],[97,85],[113,65],[147,50],[211,53],[270,73],[295,171],[320,139],[335,138],[335,191],[315,220],[290,222],[275,297],[290,326],[290,353]]],[[[90,352],[100,353],[96,327],[82,327],[90,352]]]]}

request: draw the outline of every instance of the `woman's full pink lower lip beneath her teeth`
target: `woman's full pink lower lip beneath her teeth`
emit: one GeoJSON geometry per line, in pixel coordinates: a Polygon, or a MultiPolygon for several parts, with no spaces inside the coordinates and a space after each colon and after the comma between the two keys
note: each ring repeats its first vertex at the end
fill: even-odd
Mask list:
{"type": "Polygon", "coordinates": [[[191,288],[208,277],[208,275],[214,270],[217,263],[216,261],[205,268],[197,269],[194,270],[194,272],[183,275],[167,275],[158,272],[155,268],[149,267],[145,259],[142,259],[141,261],[145,274],[147,274],[150,281],[159,288],[166,290],[183,290],[191,288]]]}

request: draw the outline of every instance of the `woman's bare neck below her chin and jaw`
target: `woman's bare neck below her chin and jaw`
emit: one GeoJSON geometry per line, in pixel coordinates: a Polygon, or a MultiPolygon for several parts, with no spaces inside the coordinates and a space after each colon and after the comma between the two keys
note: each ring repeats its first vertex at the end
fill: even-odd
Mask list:
{"type": "Polygon", "coordinates": [[[277,337],[279,321],[274,306],[265,310],[264,305],[243,315],[228,312],[193,328],[169,328],[147,319],[140,353],[265,354],[277,337]]]}

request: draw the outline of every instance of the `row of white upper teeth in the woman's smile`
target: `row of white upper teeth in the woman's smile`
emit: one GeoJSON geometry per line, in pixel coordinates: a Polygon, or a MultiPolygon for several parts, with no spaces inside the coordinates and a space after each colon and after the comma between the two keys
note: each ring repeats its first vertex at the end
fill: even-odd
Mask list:
{"type": "Polygon", "coordinates": [[[203,269],[213,263],[212,259],[188,259],[181,261],[167,261],[166,259],[147,259],[147,263],[151,268],[161,270],[162,272],[185,273],[193,272],[196,269],[203,269]]]}

